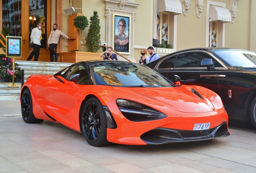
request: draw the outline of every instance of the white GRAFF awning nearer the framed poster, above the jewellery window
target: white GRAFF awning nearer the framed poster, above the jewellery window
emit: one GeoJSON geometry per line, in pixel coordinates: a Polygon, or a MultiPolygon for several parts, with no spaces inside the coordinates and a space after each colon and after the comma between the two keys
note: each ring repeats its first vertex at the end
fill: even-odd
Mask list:
{"type": "Polygon", "coordinates": [[[180,0],[158,0],[157,1],[157,12],[174,12],[176,14],[182,14],[182,5],[180,0]]]}

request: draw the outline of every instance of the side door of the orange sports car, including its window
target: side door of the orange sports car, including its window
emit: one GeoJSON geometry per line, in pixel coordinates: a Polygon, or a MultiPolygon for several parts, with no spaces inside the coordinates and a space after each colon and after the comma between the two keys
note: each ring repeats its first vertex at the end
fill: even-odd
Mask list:
{"type": "MultiPolygon", "coordinates": [[[[83,85],[69,81],[73,74],[81,75],[80,70],[84,70],[83,65],[70,67],[65,74],[55,76],[47,85],[47,93],[51,102],[51,116],[62,124],[74,127],[78,122],[78,112],[81,102],[80,90],[83,85]]],[[[82,78],[83,74],[79,76],[82,78]]],[[[78,79],[79,80],[79,79],[78,79]]],[[[77,81],[78,82],[78,81],[77,81]]]]}

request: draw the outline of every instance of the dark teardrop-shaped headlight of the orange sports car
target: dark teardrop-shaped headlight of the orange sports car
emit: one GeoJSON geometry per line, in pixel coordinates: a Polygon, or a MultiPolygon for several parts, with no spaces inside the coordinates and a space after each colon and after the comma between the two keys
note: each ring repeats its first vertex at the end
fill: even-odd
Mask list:
{"type": "Polygon", "coordinates": [[[118,99],[116,104],[124,117],[130,121],[153,121],[167,117],[156,109],[133,101],[118,99]]]}

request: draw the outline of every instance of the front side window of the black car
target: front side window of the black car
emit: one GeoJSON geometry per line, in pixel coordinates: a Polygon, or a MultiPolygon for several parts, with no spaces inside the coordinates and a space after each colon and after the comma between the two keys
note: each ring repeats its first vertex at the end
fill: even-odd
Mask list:
{"type": "Polygon", "coordinates": [[[200,67],[200,61],[203,59],[212,59],[213,66],[220,65],[211,55],[205,52],[187,52],[177,55],[175,68],[200,67]]]}

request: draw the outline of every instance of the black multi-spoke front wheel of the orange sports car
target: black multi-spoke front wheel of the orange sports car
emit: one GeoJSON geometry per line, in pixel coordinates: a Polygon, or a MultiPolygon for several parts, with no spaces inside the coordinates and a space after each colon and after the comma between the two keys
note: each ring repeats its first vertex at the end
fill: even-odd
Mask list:
{"type": "Polygon", "coordinates": [[[82,132],[90,145],[95,147],[109,145],[105,111],[97,98],[92,97],[85,103],[81,123],[82,132]]]}

